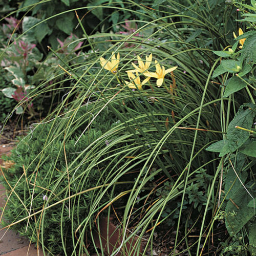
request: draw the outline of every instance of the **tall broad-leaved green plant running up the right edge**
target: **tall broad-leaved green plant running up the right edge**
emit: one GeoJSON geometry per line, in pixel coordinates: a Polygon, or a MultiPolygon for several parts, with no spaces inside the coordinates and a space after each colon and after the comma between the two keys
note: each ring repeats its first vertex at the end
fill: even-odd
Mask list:
{"type": "MultiPolygon", "coordinates": [[[[256,2],[251,1],[251,6],[241,1],[233,2],[238,12],[244,17],[239,22],[247,24],[249,31],[243,33],[239,28],[239,36],[234,33],[237,40],[228,51],[214,51],[221,57],[221,63],[216,68],[213,77],[221,77],[222,97],[229,100],[226,109],[223,105],[223,112],[227,116],[222,116],[222,131],[225,132],[223,140],[211,144],[206,150],[218,152],[223,164],[223,181],[225,182],[225,197],[229,201],[222,201],[225,207],[225,224],[231,236],[230,246],[223,250],[229,255],[236,252],[238,255],[250,252],[256,255],[255,240],[255,168],[256,148],[255,148],[255,117],[256,106],[253,95],[256,88],[253,85],[255,80],[255,11],[256,2]],[[239,46],[240,45],[240,46],[239,46]],[[238,47],[239,46],[239,47],[238,47]],[[225,58],[223,60],[223,58],[225,58]],[[244,90],[250,99],[250,103],[240,100],[241,91],[244,90]],[[240,107],[231,107],[231,101],[238,100],[240,107]],[[229,121],[230,113],[235,115],[229,121]],[[226,158],[224,158],[227,156],[226,158]],[[242,253],[242,254],[241,254],[242,253]]],[[[230,46],[231,47],[231,46],[230,46]]],[[[227,47],[226,47],[227,48],[227,47]]]]}

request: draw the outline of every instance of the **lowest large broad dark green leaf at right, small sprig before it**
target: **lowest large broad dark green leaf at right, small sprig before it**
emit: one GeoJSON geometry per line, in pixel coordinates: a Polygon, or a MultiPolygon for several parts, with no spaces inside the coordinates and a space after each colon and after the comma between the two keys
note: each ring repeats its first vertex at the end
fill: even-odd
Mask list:
{"type": "Polygon", "coordinates": [[[254,216],[254,211],[253,208],[247,206],[251,197],[242,185],[230,199],[232,201],[228,200],[225,209],[228,214],[225,223],[227,231],[232,237],[254,216]]]}

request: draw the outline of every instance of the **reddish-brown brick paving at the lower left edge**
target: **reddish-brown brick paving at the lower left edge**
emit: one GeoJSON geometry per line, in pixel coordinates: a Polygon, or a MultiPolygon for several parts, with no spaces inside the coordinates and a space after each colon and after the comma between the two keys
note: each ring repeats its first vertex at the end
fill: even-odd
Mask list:
{"type": "MultiPolygon", "coordinates": [[[[12,147],[8,144],[0,145],[0,165],[3,164],[1,156],[10,154],[12,147]]],[[[1,175],[1,173],[0,173],[1,175]]],[[[5,205],[5,187],[0,183],[0,216],[2,214],[1,207],[5,205]]],[[[0,225],[0,229],[1,229],[0,225]]],[[[34,245],[29,246],[29,241],[25,238],[19,237],[14,230],[0,230],[0,255],[4,256],[43,256],[42,250],[38,252],[34,245]]]]}

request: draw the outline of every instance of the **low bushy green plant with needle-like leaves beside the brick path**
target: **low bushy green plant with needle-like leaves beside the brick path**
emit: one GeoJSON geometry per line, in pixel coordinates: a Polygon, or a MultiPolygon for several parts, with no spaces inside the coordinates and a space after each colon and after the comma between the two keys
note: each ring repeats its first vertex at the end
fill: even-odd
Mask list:
{"type": "MultiPolygon", "coordinates": [[[[22,236],[29,237],[33,243],[38,242],[35,234],[41,233],[47,243],[47,251],[51,255],[57,255],[62,251],[63,246],[66,248],[65,251],[71,255],[71,230],[77,229],[80,221],[89,214],[95,193],[97,194],[98,189],[101,190],[104,187],[97,187],[97,184],[100,185],[99,183],[108,175],[108,173],[104,172],[104,165],[101,164],[93,167],[88,172],[86,158],[82,157],[83,154],[78,157],[75,152],[83,152],[84,148],[90,146],[95,140],[101,141],[99,143],[100,147],[107,147],[108,145],[104,143],[104,133],[115,126],[115,118],[111,118],[111,115],[104,111],[100,115],[104,124],[93,125],[87,133],[80,137],[79,142],[74,146],[77,137],[87,125],[88,114],[86,108],[81,109],[76,114],[76,118],[76,135],[74,134],[72,138],[65,142],[65,151],[63,151],[62,147],[63,136],[57,136],[57,138],[49,136],[50,132],[58,129],[60,118],[56,118],[52,122],[36,125],[36,127],[32,126],[31,134],[19,139],[17,147],[12,151],[11,157],[8,158],[9,161],[15,164],[8,169],[5,178],[1,177],[2,181],[5,179],[12,180],[9,184],[11,187],[16,187],[17,192],[15,194],[18,199],[9,201],[9,203],[11,202],[11,205],[8,203],[10,215],[5,215],[3,223],[12,222],[13,216],[19,219],[26,219],[28,212],[33,214],[43,207],[44,210],[41,212],[39,219],[34,216],[28,221],[20,222],[17,227],[19,233],[22,236]],[[39,155],[40,157],[38,158],[39,155]],[[84,162],[84,165],[76,166],[76,162],[80,160],[84,162]],[[66,161],[73,161],[73,168],[67,170],[66,161]],[[65,177],[65,172],[69,172],[68,179],[65,177]],[[21,180],[20,176],[23,177],[21,180]],[[54,181],[58,179],[61,182],[58,182],[58,185],[54,184],[54,181]],[[84,191],[84,194],[81,194],[82,197],[75,196],[79,189],[84,191]],[[71,196],[73,199],[70,199],[68,204],[65,200],[63,200],[63,203],[58,203],[62,195],[65,195],[65,197],[71,196]],[[31,197],[32,204],[30,202],[31,197]],[[22,205],[20,205],[21,201],[23,202],[22,205]],[[55,203],[54,207],[50,206],[55,203]],[[64,219],[62,214],[66,216],[64,219]],[[76,218],[76,222],[71,221],[70,216],[73,217],[73,220],[76,218]],[[42,220],[41,227],[38,227],[40,219],[42,220]],[[60,226],[62,221],[63,225],[61,224],[60,226]],[[64,235],[62,238],[60,236],[61,232],[64,235]]],[[[11,190],[7,191],[7,195],[12,195],[11,190]]],[[[110,195],[106,193],[100,199],[99,204],[104,205],[109,200],[109,197],[110,195]]]]}

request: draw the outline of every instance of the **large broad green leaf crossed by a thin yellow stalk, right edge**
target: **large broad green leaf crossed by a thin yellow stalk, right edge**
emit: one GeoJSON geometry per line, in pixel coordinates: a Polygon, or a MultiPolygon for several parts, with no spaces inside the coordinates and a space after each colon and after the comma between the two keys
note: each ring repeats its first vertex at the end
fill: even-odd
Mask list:
{"type": "MultiPolygon", "coordinates": [[[[250,136],[249,132],[237,129],[236,126],[251,129],[255,115],[256,106],[254,104],[246,103],[240,106],[236,116],[234,116],[233,120],[229,123],[227,129],[226,146],[230,153],[236,151],[240,146],[242,146],[250,136]]],[[[224,155],[225,152],[220,153],[220,157],[224,155]]]]}

